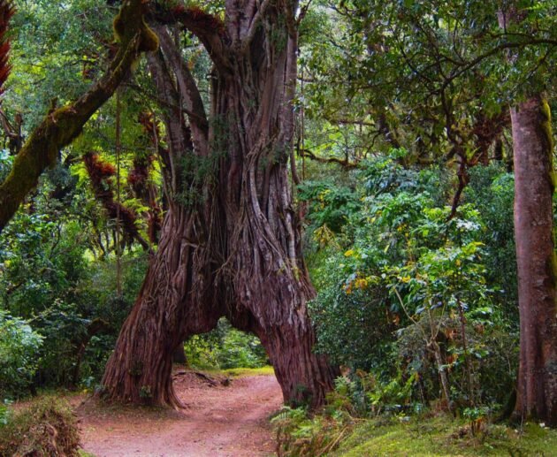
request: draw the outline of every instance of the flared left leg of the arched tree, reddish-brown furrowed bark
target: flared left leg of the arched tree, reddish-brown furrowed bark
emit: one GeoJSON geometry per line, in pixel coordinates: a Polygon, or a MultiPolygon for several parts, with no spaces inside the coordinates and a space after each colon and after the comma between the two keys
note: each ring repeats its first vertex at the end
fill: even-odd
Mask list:
{"type": "Polygon", "coordinates": [[[180,405],[172,388],[172,354],[187,336],[213,329],[223,313],[205,268],[209,263],[195,247],[202,232],[190,211],[172,207],[167,213],[158,251],[104,372],[107,398],[180,405]]]}

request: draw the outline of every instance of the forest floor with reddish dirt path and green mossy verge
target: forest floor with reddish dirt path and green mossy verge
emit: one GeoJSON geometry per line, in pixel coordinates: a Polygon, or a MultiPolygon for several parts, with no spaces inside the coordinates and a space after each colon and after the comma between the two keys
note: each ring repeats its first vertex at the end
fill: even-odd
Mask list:
{"type": "MultiPolygon", "coordinates": [[[[85,392],[44,392],[32,400],[11,405],[17,414],[11,423],[22,426],[21,430],[34,430],[32,425],[41,421],[57,423],[59,413],[53,415],[51,408],[58,402],[57,411],[65,410],[68,420],[72,412],[77,415],[81,457],[275,455],[276,441],[269,419],[281,407],[282,393],[271,368],[224,372],[179,368],[174,371],[174,384],[186,404],[180,410],[108,405],[91,399],[85,392]],[[43,416],[45,406],[50,408],[50,415],[43,416]]],[[[336,413],[339,413],[336,418],[318,415],[301,422],[296,416],[294,423],[290,423],[294,424],[292,437],[298,434],[298,438],[303,438],[283,440],[282,446],[291,455],[303,452],[331,457],[557,456],[557,430],[544,424],[510,426],[485,421],[471,435],[466,420],[435,409],[423,415],[380,415],[367,419],[336,413]]],[[[4,445],[11,446],[13,438],[25,438],[20,431],[13,434],[13,430],[19,429],[10,430],[4,436],[8,439],[4,439],[4,445]]],[[[40,427],[36,430],[44,431],[40,427]]],[[[29,437],[34,438],[33,433],[29,437]]],[[[23,449],[35,442],[18,439],[16,443],[20,441],[23,449]]],[[[11,454],[0,449],[0,455],[11,454]]],[[[17,453],[20,454],[23,455],[17,453]]]]}

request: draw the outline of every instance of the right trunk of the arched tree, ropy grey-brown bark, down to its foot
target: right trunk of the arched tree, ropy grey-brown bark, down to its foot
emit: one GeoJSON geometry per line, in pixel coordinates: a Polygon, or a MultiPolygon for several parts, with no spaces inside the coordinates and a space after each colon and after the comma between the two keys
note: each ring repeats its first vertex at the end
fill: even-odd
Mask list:
{"type": "MultiPolygon", "coordinates": [[[[233,314],[253,317],[256,324],[248,330],[267,350],[286,402],[316,407],[332,389],[334,372],[313,353],[307,302],[315,293],[288,180],[297,35],[273,19],[272,33],[282,44],[235,55],[233,77],[214,88],[214,113],[228,126],[218,179],[230,240],[225,274],[233,285],[233,314]]],[[[268,39],[262,27],[254,42],[268,39]]]]}

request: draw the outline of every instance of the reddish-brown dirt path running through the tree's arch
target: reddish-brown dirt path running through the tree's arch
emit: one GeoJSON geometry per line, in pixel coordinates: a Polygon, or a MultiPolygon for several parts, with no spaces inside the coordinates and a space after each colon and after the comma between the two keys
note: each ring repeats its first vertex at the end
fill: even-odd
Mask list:
{"type": "Polygon", "coordinates": [[[187,372],[175,379],[181,411],[132,407],[78,408],[81,442],[105,456],[267,456],[274,454],[269,415],[282,393],[273,376],[233,379],[211,386],[187,372]]]}

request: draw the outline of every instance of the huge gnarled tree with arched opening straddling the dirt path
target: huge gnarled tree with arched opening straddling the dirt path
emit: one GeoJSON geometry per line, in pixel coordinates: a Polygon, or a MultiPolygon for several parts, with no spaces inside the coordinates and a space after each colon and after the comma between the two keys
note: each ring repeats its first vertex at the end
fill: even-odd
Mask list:
{"type": "Polygon", "coordinates": [[[224,20],[197,7],[153,11],[161,51],[149,70],[164,106],[169,209],[103,377],[112,399],[178,405],[172,352],[220,316],[261,339],[286,401],[317,406],[332,388],[333,369],[312,351],[314,290],[288,179],[297,9],[295,0],[227,1],[224,20]],[[212,61],[209,110],[177,29],[212,61]]]}

